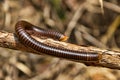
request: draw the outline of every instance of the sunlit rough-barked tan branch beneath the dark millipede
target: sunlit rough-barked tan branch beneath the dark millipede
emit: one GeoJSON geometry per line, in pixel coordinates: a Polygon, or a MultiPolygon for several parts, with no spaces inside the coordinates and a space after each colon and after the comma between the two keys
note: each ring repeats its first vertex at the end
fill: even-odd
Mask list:
{"type": "MultiPolygon", "coordinates": [[[[96,47],[84,47],[84,46],[78,46],[75,44],[70,44],[67,42],[60,42],[60,41],[55,41],[53,39],[42,39],[33,36],[36,40],[44,43],[44,44],[49,44],[55,47],[62,47],[62,48],[67,48],[71,50],[85,50],[85,51],[93,51],[93,52],[98,52],[102,54],[102,59],[99,62],[82,62],[86,65],[90,66],[103,66],[107,68],[112,68],[112,69],[120,69],[120,52],[117,51],[111,51],[107,49],[100,49],[96,47]]],[[[22,45],[17,37],[15,36],[14,33],[8,33],[5,31],[0,32],[0,47],[3,48],[9,48],[13,50],[21,50],[25,52],[31,52],[35,54],[40,54],[37,53],[34,50],[31,50],[24,45],[22,45]]]]}

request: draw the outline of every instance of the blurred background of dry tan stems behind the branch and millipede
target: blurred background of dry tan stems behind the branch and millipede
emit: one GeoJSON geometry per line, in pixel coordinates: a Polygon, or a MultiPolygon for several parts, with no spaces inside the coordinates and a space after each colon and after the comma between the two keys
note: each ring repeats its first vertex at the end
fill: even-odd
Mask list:
{"type": "MultiPolygon", "coordinates": [[[[120,0],[0,0],[0,30],[14,33],[19,20],[69,43],[120,48],[120,0]]],[[[120,80],[120,71],[0,48],[0,80],[120,80]]]]}

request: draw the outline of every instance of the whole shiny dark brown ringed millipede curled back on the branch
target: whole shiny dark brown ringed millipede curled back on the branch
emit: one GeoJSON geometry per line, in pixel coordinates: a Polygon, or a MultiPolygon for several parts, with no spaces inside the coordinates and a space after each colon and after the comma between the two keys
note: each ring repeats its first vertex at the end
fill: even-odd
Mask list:
{"type": "Polygon", "coordinates": [[[34,38],[31,37],[28,30],[33,32],[39,32],[40,35],[48,36],[54,39],[60,40],[62,38],[66,38],[59,32],[49,31],[40,29],[37,26],[34,26],[26,21],[19,21],[15,25],[15,32],[20,40],[25,46],[30,47],[37,52],[55,56],[64,59],[70,59],[74,61],[91,61],[91,62],[98,62],[101,59],[101,54],[95,52],[88,52],[88,51],[76,51],[76,50],[69,50],[64,48],[58,48],[50,45],[43,44],[34,38]],[[55,36],[55,37],[54,37],[55,36]]]}

